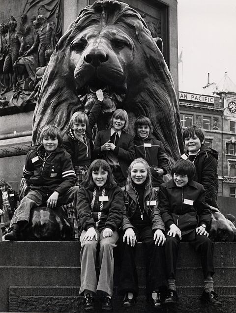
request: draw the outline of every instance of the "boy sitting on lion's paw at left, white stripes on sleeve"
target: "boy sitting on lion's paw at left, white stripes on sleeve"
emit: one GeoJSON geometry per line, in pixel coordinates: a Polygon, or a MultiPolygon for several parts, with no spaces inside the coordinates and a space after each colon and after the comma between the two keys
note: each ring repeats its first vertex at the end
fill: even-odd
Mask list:
{"type": "Polygon", "coordinates": [[[61,147],[59,128],[45,126],[40,140],[42,144],[32,147],[26,156],[23,175],[30,191],[16,209],[5,240],[17,240],[19,231],[29,223],[31,208],[43,203],[54,208],[72,202],[77,192],[77,188],[73,187],[75,171],[69,153],[61,147]]]}

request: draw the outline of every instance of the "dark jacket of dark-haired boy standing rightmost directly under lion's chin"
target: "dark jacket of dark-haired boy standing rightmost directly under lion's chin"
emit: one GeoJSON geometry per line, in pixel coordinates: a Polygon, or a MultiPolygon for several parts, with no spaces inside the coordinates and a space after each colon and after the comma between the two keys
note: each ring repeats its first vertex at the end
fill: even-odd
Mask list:
{"type": "Polygon", "coordinates": [[[154,168],[162,169],[163,175],[168,171],[168,158],[163,143],[157,140],[152,134],[143,139],[134,137],[134,149],[136,158],[143,158],[148,162],[151,169],[152,185],[160,186],[164,182],[162,175],[159,176],[154,168]],[[151,146],[147,147],[145,144],[151,146]]]}

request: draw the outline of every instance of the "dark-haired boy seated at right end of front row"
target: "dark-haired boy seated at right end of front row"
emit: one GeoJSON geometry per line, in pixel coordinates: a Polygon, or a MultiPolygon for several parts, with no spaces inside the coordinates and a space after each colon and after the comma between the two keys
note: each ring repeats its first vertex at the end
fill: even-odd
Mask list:
{"type": "Polygon", "coordinates": [[[200,253],[204,273],[202,300],[221,306],[213,289],[213,244],[208,238],[211,213],[205,202],[203,185],[193,181],[195,166],[189,160],[178,160],[169,182],[160,186],[159,208],[166,227],[166,269],[168,293],[164,304],[177,301],[176,266],[180,241],[189,242],[200,253]]]}

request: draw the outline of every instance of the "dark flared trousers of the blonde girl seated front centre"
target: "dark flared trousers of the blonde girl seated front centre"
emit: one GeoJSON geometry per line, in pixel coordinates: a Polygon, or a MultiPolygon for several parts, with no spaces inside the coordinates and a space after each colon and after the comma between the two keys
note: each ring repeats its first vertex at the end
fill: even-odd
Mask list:
{"type": "MultiPolygon", "coordinates": [[[[159,290],[160,287],[166,287],[165,273],[165,252],[162,246],[154,244],[153,232],[151,227],[135,229],[137,241],[141,241],[146,248],[146,294],[147,296],[154,290],[159,290]]],[[[120,236],[120,242],[123,235],[120,236]]],[[[138,295],[138,276],[135,264],[136,246],[131,247],[127,241],[121,242],[122,259],[120,268],[119,292],[125,294],[132,292],[135,296],[138,295]]]]}

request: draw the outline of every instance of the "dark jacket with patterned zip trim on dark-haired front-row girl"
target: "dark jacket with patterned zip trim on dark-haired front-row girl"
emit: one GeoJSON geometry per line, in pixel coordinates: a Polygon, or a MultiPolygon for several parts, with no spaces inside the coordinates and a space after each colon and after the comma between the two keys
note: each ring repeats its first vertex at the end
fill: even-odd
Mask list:
{"type": "Polygon", "coordinates": [[[120,187],[86,189],[77,192],[76,210],[82,230],[90,227],[117,230],[123,214],[123,194],[120,187]],[[105,198],[100,198],[105,197],[105,198]]]}

